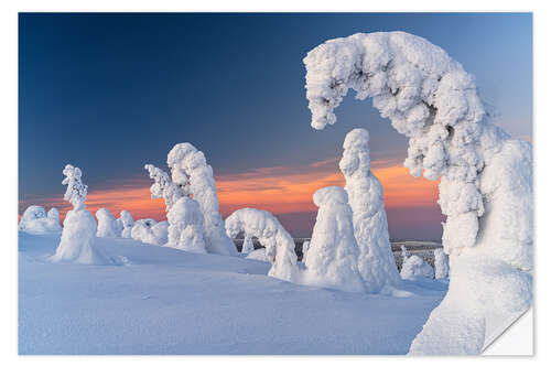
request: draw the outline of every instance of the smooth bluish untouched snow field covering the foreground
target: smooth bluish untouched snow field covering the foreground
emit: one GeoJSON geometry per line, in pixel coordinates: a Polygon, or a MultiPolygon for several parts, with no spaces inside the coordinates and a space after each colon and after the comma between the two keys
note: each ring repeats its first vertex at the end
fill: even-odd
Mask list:
{"type": "Polygon", "coordinates": [[[19,235],[20,354],[406,354],[446,281],[395,295],[302,287],[270,265],[98,238],[117,265],[53,263],[19,235]]]}

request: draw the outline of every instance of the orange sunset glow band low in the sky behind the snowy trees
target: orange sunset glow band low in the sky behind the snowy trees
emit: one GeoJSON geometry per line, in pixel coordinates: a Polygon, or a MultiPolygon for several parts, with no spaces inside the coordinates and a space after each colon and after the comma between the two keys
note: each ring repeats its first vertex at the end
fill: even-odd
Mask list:
{"type": "MultiPolygon", "coordinates": [[[[312,202],[314,192],[324,186],[344,186],[345,180],[336,160],[314,162],[305,166],[261,168],[247,172],[216,176],[216,186],[220,212],[224,216],[231,212],[255,207],[273,214],[315,212],[312,202]]],[[[380,180],[385,190],[385,206],[426,207],[435,206],[437,199],[437,182],[414,179],[409,170],[388,162],[372,162],[374,174],[380,180]],[[387,165],[386,165],[387,164],[387,165]]],[[[55,206],[62,218],[71,209],[63,198],[42,198],[26,201],[24,205],[42,205],[46,208],[55,206]]],[[[155,218],[165,220],[163,199],[151,199],[149,186],[90,190],[86,207],[95,214],[97,209],[107,207],[116,217],[120,211],[127,209],[134,219],[155,218]]]]}

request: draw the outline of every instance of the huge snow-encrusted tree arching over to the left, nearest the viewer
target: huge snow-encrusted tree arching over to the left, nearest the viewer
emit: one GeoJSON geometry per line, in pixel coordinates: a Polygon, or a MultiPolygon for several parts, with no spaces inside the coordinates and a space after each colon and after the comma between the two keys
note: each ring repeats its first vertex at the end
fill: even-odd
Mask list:
{"type": "Polygon", "coordinates": [[[474,77],[422,37],[357,33],[318,45],[304,64],[313,128],[336,122],[352,88],[409,138],[411,174],[441,177],[450,290],[410,353],[479,353],[487,317],[531,303],[531,144],[494,125],[474,77]]]}

